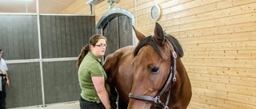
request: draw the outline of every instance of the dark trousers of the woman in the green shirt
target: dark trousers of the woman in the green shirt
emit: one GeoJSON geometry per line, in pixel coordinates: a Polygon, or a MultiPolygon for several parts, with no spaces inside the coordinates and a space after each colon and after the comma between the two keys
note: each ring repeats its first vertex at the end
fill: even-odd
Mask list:
{"type": "Polygon", "coordinates": [[[105,109],[102,103],[89,102],[82,99],[82,97],[79,99],[79,103],[81,109],[105,109]]]}

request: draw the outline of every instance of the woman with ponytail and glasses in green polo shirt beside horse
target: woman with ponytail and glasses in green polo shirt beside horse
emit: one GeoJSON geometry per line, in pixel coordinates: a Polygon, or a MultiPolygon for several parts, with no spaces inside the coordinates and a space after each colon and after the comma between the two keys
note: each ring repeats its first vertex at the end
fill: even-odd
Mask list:
{"type": "Polygon", "coordinates": [[[78,57],[81,109],[110,109],[110,87],[99,57],[106,52],[106,37],[94,35],[78,57]]]}

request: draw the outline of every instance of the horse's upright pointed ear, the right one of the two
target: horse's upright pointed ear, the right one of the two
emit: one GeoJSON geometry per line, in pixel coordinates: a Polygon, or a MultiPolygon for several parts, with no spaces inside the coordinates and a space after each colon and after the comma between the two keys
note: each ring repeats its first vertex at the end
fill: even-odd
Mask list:
{"type": "Polygon", "coordinates": [[[158,42],[158,45],[162,46],[165,41],[165,35],[162,31],[162,26],[158,24],[158,22],[155,23],[154,27],[154,38],[155,41],[158,42]]]}

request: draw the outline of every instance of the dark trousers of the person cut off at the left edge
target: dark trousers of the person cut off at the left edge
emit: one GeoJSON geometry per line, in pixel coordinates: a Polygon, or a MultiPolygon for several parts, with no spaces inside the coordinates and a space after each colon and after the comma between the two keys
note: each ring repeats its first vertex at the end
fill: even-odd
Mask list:
{"type": "Polygon", "coordinates": [[[2,79],[2,91],[0,91],[0,109],[6,109],[6,80],[2,79]]]}

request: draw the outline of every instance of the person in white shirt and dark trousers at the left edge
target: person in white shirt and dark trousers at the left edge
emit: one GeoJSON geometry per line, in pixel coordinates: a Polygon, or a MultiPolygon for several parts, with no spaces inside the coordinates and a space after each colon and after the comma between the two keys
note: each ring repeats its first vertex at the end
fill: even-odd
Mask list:
{"type": "Polygon", "coordinates": [[[6,86],[10,86],[9,78],[8,78],[8,68],[6,64],[6,60],[2,59],[2,49],[0,48],[0,80],[2,87],[0,88],[0,109],[6,109],[6,86]]]}

